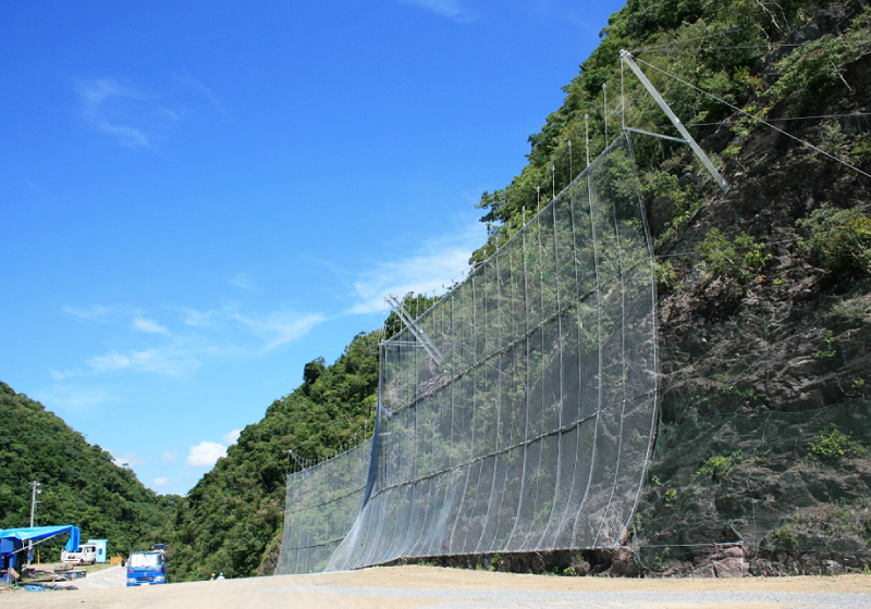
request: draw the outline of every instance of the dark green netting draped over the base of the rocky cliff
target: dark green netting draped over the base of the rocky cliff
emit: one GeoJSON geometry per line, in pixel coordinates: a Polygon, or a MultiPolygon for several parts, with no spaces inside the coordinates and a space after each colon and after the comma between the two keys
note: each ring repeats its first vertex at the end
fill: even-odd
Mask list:
{"type": "Polygon", "coordinates": [[[849,448],[871,445],[867,398],[792,412],[691,410],[659,443],[653,463],[670,483],[654,483],[650,492],[661,496],[674,488],[679,507],[648,501],[637,523],[642,544],[651,544],[636,548],[642,564],[662,562],[665,547],[671,559],[691,556],[722,540],[726,525],[755,549],[871,559],[871,520],[862,513],[869,469],[849,448]]]}

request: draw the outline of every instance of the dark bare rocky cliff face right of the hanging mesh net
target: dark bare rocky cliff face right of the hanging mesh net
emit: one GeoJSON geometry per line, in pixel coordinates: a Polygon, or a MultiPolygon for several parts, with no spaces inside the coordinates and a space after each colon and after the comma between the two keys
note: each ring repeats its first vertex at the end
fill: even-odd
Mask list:
{"type": "MultiPolygon", "coordinates": [[[[834,5],[790,39],[843,32],[862,10],[834,5]]],[[[871,54],[838,76],[778,101],[769,117],[797,107],[799,115],[841,115],[790,121],[789,132],[852,151],[869,172],[859,152],[871,137],[871,54]]],[[[726,129],[703,148],[734,146],[726,129]]],[[[861,262],[871,248],[871,178],[769,128],[743,137],[725,163],[733,188],[658,248],[667,261],[662,414],[635,520],[637,555],[653,572],[711,575],[712,552],[723,548],[704,546],[743,539],[752,573],[861,570],[871,564],[871,268],[861,262]],[[837,233],[844,214],[842,228],[826,224],[837,210],[854,210],[856,243],[837,233]],[[826,229],[827,243],[813,240],[826,229]],[[835,246],[859,262],[835,263],[835,246]],[[715,253],[723,250],[725,262],[715,253]]],[[[663,234],[658,206],[667,201],[649,204],[663,234]]]]}

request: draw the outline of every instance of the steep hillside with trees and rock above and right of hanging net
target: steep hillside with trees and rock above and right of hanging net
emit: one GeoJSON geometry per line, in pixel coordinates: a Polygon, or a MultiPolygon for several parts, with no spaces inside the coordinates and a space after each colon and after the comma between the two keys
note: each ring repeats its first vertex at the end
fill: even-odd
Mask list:
{"type": "MultiPolygon", "coordinates": [[[[633,0],[606,35],[530,137],[529,165],[484,194],[491,236],[473,260],[535,209],[533,186],[551,164],[557,175],[567,165],[584,115],[602,130],[601,84],[621,86],[616,50],[650,48],[635,54],[732,189],[719,192],[685,147],[634,137],[662,349],[636,560],[712,574],[720,549],[710,545],[743,538],[751,572],[861,569],[871,562],[869,3],[633,0]]],[[[673,133],[628,77],[626,89],[627,124],[673,133]]],[[[609,567],[608,556],[589,558],[609,567]]]]}

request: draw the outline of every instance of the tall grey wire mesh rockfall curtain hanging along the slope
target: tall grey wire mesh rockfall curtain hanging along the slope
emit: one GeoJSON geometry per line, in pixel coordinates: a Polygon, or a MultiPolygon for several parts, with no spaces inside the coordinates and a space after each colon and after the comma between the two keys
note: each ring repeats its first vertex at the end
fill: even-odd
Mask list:
{"type": "MultiPolygon", "coordinates": [[[[617,545],[657,421],[654,307],[650,239],[622,136],[418,318],[416,332],[382,343],[368,480],[328,492],[311,470],[289,478],[278,572],[315,570],[334,547],[332,495],[361,510],[342,523],[347,534],[326,570],[617,545]],[[303,512],[329,523],[314,519],[299,533],[303,512]]],[[[344,459],[324,465],[349,471],[344,459]]]]}

